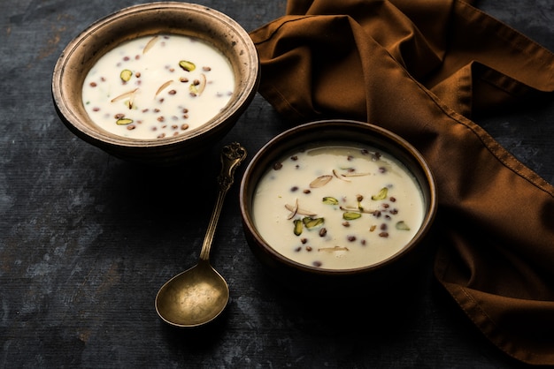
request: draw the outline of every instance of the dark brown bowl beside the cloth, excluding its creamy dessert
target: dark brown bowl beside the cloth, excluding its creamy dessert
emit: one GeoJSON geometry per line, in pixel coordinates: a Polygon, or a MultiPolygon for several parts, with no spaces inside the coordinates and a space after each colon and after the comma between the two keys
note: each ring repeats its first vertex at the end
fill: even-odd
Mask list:
{"type": "MultiPolygon", "coordinates": [[[[298,195],[298,197],[302,196],[304,195],[298,195]]],[[[302,201],[298,204],[302,207],[302,201]]],[[[319,296],[339,296],[380,290],[384,286],[398,282],[403,275],[405,277],[407,271],[420,265],[421,260],[424,259],[423,255],[429,253],[428,235],[435,218],[437,200],[435,179],[427,162],[407,141],[373,124],[329,120],[296,126],[282,132],[262,147],[245,169],[240,189],[240,207],[247,242],[269,275],[292,290],[313,292],[319,296]],[[366,145],[375,147],[383,153],[391,154],[402,162],[406,169],[409,169],[420,189],[423,220],[415,235],[399,252],[384,260],[372,262],[371,265],[335,269],[298,262],[276,251],[276,246],[282,245],[270,245],[265,241],[253,215],[258,183],[265,173],[274,169],[273,165],[276,162],[281,162],[280,158],[283,155],[289,155],[295,150],[316,142],[322,145],[345,142],[358,147],[366,145]]],[[[273,222],[273,215],[270,217],[273,222]]]]}

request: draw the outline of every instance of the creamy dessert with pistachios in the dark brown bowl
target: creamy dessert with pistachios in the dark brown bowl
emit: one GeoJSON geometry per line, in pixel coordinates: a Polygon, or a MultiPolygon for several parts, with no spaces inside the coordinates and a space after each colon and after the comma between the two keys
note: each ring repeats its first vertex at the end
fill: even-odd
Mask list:
{"type": "Polygon", "coordinates": [[[260,236],[276,252],[326,269],[388,259],[424,219],[412,173],[388,153],[351,143],[282,157],[261,177],[252,207],[260,236]]]}

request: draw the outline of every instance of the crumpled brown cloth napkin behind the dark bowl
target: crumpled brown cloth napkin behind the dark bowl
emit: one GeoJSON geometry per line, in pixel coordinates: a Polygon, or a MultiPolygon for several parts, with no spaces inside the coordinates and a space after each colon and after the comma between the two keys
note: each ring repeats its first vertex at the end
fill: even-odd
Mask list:
{"type": "Polygon", "coordinates": [[[412,142],[438,186],[436,278],[498,348],[554,365],[554,187],[470,120],[551,99],[554,55],[468,3],[289,0],[250,34],[260,93],[295,124],[412,142]]]}

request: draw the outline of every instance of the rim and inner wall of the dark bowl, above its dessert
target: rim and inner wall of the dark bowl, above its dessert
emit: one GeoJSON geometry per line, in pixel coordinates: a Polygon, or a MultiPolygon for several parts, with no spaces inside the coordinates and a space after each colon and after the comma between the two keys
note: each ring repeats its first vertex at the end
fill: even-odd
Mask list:
{"type": "Polygon", "coordinates": [[[255,248],[259,249],[258,252],[263,252],[270,260],[279,260],[279,262],[289,267],[315,274],[349,275],[386,266],[393,260],[396,260],[400,255],[410,252],[411,249],[425,237],[427,230],[433,222],[436,211],[435,180],[427,166],[427,162],[425,162],[421,154],[404,139],[401,139],[391,132],[383,130],[373,124],[352,121],[321,121],[304,124],[287,132],[283,132],[281,135],[272,139],[258,152],[258,154],[256,154],[246,169],[242,179],[240,196],[242,221],[245,231],[248,237],[250,237],[250,242],[255,244],[255,248]],[[260,236],[254,225],[252,202],[258,182],[261,177],[264,176],[265,171],[283,154],[288,154],[292,149],[303,147],[308,143],[336,143],[337,141],[370,145],[395,156],[396,159],[404,163],[407,169],[412,171],[422,193],[425,207],[424,219],[419,227],[419,231],[412,238],[412,241],[400,252],[389,257],[389,259],[382,260],[369,267],[355,269],[322,269],[300,264],[276,252],[271,245],[268,245],[264,238],[260,236]]]}

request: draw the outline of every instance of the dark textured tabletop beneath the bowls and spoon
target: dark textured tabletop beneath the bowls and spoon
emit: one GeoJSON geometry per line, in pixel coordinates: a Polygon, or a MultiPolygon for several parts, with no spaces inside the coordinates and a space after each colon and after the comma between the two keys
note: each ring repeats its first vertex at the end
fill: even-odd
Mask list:
{"type": "MultiPolygon", "coordinates": [[[[286,6],[285,0],[198,3],[248,31],[286,6]]],[[[202,160],[171,170],[121,162],[75,138],[52,105],[54,64],[88,24],[132,4],[138,3],[0,2],[1,367],[519,366],[481,337],[429,267],[416,297],[388,303],[317,305],[279,290],[245,244],[238,184],[212,250],[231,289],[224,319],[202,330],[165,327],[154,297],[168,278],[196,263],[220,147],[238,140],[251,159],[288,124],[258,95],[202,160]]],[[[554,50],[551,0],[477,5],[554,50]]],[[[477,123],[554,184],[551,98],[477,123]]]]}

